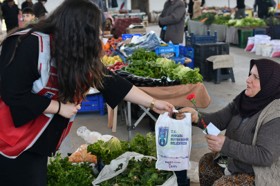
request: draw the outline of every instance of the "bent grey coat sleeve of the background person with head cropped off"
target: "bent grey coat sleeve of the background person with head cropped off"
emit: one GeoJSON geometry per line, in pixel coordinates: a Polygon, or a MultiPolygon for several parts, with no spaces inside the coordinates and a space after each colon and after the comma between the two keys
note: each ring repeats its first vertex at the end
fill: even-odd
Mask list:
{"type": "Polygon", "coordinates": [[[167,17],[160,17],[160,24],[161,25],[173,25],[173,24],[176,24],[176,23],[178,23],[180,21],[180,19],[182,19],[182,17],[185,15],[185,13],[186,13],[185,6],[178,6],[167,17]]]}

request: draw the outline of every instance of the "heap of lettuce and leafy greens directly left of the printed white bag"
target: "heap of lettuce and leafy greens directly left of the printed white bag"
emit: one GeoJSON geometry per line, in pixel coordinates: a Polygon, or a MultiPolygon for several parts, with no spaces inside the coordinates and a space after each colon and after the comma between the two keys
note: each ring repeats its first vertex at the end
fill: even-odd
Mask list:
{"type": "Polygon", "coordinates": [[[88,145],[87,152],[97,156],[97,159],[102,160],[104,165],[109,165],[113,159],[118,158],[124,152],[138,152],[145,156],[156,157],[156,135],[151,135],[151,132],[149,132],[146,138],[144,138],[144,136],[136,134],[131,142],[119,141],[116,137],[111,138],[105,143],[99,140],[88,145]]]}

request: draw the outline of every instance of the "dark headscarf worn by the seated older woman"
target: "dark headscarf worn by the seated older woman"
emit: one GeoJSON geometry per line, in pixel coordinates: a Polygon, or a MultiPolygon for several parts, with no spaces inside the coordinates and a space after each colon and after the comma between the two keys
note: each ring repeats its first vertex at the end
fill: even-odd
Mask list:
{"type": "Polygon", "coordinates": [[[275,99],[280,99],[280,64],[270,59],[252,59],[249,76],[253,65],[259,72],[261,90],[254,97],[246,96],[245,90],[236,96],[234,109],[242,118],[253,116],[275,99]]]}

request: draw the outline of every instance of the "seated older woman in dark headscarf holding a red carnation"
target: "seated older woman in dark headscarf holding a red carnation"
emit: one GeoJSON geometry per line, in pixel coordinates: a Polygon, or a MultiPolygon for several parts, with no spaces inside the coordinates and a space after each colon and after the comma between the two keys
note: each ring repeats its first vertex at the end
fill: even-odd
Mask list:
{"type": "MultiPolygon", "coordinates": [[[[280,65],[269,59],[252,59],[247,87],[218,112],[203,113],[225,136],[205,135],[212,152],[199,162],[200,185],[279,185],[280,65]],[[225,159],[223,165],[221,152],[225,159]],[[221,166],[220,166],[221,165],[221,166]],[[225,168],[223,168],[225,167],[225,168]]],[[[198,112],[192,123],[203,128],[198,112]]],[[[183,116],[179,114],[177,119],[183,116]]]]}

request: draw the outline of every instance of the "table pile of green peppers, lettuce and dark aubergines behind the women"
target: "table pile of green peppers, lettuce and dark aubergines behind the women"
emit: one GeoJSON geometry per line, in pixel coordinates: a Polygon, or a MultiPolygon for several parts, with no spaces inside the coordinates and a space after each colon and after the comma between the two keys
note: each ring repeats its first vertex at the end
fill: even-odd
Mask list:
{"type": "Polygon", "coordinates": [[[120,70],[127,73],[121,72],[119,75],[136,86],[169,86],[203,81],[203,76],[198,73],[199,69],[192,70],[175,61],[160,58],[149,50],[136,50],[126,61],[129,61],[129,65],[120,70]]]}

